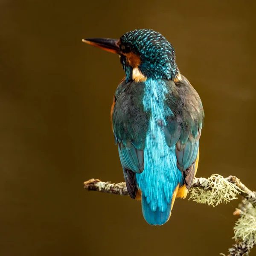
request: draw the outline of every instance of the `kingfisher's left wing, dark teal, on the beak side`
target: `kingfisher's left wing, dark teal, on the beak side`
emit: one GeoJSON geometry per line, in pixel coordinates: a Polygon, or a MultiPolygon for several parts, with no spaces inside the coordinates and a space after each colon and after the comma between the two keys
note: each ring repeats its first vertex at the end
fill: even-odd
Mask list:
{"type": "Polygon", "coordinates": [[[147,114],[143,111],[143,87],[133,81],[122,81],[116,90],[112,105],[113,133],[118,144],[128,192],[136,197],[136,173],[144,170],[145,137],[148,130],[147,114]]]}

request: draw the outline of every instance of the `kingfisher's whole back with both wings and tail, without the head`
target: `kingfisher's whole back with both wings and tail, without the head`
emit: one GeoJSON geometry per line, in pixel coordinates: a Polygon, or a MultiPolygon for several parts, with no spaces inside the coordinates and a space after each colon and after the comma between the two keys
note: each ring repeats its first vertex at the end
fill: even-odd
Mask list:
{"type": "Polygon", "coordinates": [[[164,224],[175,188],[191,182],[186,169],[198,153],[204,117],[201,100],[182,76],[177,83],[123,81],[115,102],[113,131],[128,191],[135,198],[140,189],[149,224],[164,224]]]}

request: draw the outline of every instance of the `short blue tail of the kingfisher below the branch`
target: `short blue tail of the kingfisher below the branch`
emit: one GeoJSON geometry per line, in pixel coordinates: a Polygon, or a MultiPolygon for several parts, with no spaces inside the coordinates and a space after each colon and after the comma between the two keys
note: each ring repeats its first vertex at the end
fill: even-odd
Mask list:
{"type": "Polygon", "coordinates": [[[163,212],[157,207],[156,211],[152,211],[150,204],[147,203],[145,196],[141,198],[142,212],[145,220],[150,225],[163,225],[165,224],[171,214],[171,204],[166,204],[165,210],[163,212]]]}

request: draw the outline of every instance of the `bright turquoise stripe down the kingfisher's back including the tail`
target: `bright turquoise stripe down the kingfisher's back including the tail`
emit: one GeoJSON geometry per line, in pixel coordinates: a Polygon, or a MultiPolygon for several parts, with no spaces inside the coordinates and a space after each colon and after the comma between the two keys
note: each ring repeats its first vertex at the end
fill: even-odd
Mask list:
{"type": "Polygon", "coordinates": [[[173,116],[165,104],[167,93],[164,81],[145,81],[144,111],[151,114],[145,140],[144,171],[136,175],[136,180],[142,192],[143,216],[151,225],[168,221],[173,192],[182,180],[182,173],[177,168],[176,147],[167,145],[163,130],[167,125],[166,117],[173,116]]]}

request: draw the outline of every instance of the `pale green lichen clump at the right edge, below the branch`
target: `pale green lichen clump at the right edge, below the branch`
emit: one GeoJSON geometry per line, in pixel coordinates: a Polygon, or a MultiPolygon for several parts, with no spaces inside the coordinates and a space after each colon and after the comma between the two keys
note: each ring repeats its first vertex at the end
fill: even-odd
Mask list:
{"type": "Polygon", "coordinates": [[[240,210],[240,218],[234,226],[233,239],[244,241],[249,245],[256,242],[256,209],[248,203],[244,211],[240,210]]]}

